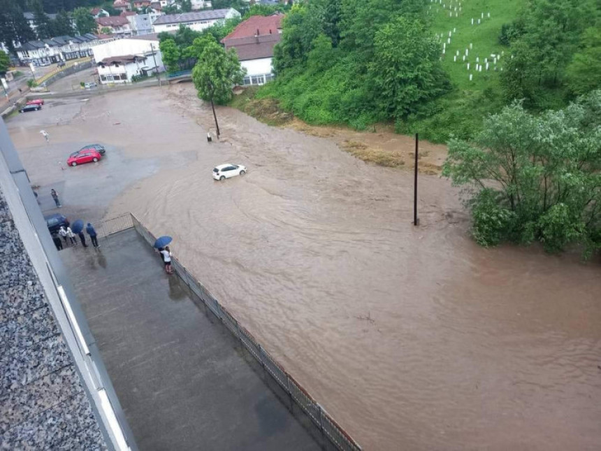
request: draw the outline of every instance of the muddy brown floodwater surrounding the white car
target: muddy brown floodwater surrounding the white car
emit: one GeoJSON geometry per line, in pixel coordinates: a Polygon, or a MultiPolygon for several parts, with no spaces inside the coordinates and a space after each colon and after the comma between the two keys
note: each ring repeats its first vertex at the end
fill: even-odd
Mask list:
{"type": "Polygon", "coordinates": [[[131,164],[191,152],[108,215],[173,236],[175,255],[365,450],[600,449],[599,259],[479,248],[437,176],[420,178],[413,227],[409,171],[230,108],[209,145],[210,109],[190,85],[144,92],[142,109],[140,94],[93,99],[51,134],[94,129],[131,164]],[[224,162],[249,172],[214,182],[224,162]]]}

